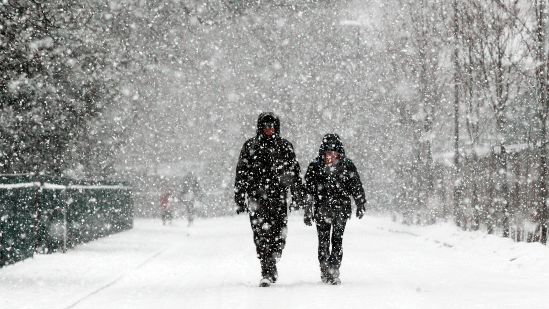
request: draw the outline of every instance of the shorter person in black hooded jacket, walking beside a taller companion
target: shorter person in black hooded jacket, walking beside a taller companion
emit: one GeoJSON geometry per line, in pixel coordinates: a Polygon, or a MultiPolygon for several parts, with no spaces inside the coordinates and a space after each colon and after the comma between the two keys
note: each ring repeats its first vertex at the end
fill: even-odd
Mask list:
{"type": "Polygon", "coordinates": [[[364,215],[366,197],[355,164],[345,156],[337,134],[324,135],[318,157],[307,168],[305,181],[313,203],[305,208],[304,220],[307,225],[312,225],[312,220],[316,222],[322,282],[340,284],[343,231],[351,218],[350,196],[355,199],[359,219],[364,215]]]}

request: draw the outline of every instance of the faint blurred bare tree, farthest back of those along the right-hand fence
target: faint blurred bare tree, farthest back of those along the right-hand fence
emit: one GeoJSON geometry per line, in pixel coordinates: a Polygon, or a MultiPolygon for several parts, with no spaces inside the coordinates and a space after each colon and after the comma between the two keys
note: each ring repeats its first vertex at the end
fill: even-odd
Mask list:
{"type": "MultiPolygon", "coordinates": [[[[402,19],[406,29],[404,50],[406,61],[397,65],[401,74],[415,89],[413,100],[403,101],[399,107],[402,122],[412,133],[413,157],[408,170],[410,184],[407,187],[415,192],[410,198],[417,209],[425,212],[429,222],[435,214],[429,205],[432,203],[435,173],[433,161],[434,126],[442,111],[445,99],[445,85],[448,71],[441,65],[450,53],[444,37],[450,27],[445,23],[445,5],[441,1],[401,2],[408,13],[402,19]]],[[[402,49],[402,48],[401,48],[402,49]]]]}

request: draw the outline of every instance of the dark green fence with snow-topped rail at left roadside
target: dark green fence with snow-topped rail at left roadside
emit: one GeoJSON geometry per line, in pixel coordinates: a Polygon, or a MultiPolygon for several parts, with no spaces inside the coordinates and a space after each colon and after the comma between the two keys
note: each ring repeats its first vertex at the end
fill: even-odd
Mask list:
{"type": "Polygon", "coordinates": [[[0,175],[0,267],[131,229],[128,183],[0,175]]]}

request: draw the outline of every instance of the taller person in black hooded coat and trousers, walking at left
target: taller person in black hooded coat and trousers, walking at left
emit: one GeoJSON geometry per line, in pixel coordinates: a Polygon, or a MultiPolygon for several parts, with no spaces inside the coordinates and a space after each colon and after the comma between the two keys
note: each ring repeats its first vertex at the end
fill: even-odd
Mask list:
{"type": "Polygon", "coordinates": [[[261,113],[256,136],[240,151],[234,181],[237,213],[250,212],[261,262],[260,286],[277,280],[276,262],[282,256],[288,230],[288,189],[297,208],[304,203],[300,174],[292,143],[280,137],[280,120],[273,113],[261,113]]]}

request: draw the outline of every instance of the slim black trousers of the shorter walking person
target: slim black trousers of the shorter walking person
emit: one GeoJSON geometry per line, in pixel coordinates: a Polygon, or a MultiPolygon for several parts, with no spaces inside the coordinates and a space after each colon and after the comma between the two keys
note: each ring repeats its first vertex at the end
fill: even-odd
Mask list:
{"type": "Polygon", "coordinates": [[[339,269],[343,259],[343,232],[347,218],[343,216],[317,220],[318,262],[321,269],[339,269]],[[330,251],[330,230],[331,245],[330,251]]]}

